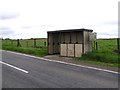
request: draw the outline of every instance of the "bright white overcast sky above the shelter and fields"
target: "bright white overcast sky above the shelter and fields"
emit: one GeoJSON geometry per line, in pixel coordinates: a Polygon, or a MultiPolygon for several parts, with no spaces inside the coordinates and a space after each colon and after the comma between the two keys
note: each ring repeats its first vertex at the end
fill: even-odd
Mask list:
{"type": "Polygon", "coordinates": [[[92,29],[118,37],[119,0],[0,0],[0,38],[47,38],[47,31],[92,29]]]}

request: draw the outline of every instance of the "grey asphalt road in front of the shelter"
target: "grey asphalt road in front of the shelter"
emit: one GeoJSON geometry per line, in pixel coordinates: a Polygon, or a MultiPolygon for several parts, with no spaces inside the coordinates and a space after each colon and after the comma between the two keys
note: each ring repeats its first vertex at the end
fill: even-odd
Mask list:
{"type": "Polygon", "coordinates": [[[3,88],[118,88],[118,74],[2,51],[3,88]]]}

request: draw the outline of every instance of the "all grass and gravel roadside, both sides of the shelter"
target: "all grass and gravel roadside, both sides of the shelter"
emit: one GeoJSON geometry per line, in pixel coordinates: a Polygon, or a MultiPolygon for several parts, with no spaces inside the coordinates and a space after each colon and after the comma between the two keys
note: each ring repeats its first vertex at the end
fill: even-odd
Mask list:
{"type": "Polygon", "coordinates": [[[34,47],[33,40],[34,39],[21,40],[20,41],[21,46],[19,47],[17,46],[16,40],[3,40],[2,49],[20,52],[38,57],[44,57],[51,60],[58,60],[73,64],[80,64],[80,65],[103,68],[114,71],[118,71],[118,67],[120,68],[120,64],[118,63],[120,57],[115,52],[117,45],[115,39],[97,40],[98,42],[97,51],[83,54],[81,58],[69,58],[69,57],[60,57],[59,55],[48,55],[47,46],[44,47],[45,43],[41,40],[37,40],[36,41],[37,47],[34,47]]]}

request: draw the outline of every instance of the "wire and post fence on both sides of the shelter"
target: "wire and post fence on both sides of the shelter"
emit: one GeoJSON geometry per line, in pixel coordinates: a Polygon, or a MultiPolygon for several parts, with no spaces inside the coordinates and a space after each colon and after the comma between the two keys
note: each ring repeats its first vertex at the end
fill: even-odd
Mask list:
{"type": "MultiPolygon", "coordinates": [[[[47,39],[17,39],[2,40],[2,45],[10,45],[14,47],[47,47],[47,39]]],[[[98,52],[118,52],[120,53],[120,38],[117,39],[97,39],[93,41],[93,51],[98,52]]]]}

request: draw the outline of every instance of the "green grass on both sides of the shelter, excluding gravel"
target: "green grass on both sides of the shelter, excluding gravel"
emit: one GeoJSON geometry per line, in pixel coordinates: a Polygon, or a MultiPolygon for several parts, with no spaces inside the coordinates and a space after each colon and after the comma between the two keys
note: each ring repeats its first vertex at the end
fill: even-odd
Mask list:
{"type": "MultiPolygon", "coordinates": [[[[26,54],[31,54],[35,56],[45,56],[47,55],[47,46],[44,43],[46,39],[36,39],[36,47],[34,48],[34,39],[20,40],[20,47],[17,47],[16,40],[3,40],[2,49],[16,51],[26,54]]],[[[95,64],[104,64],[109,66],[119,66],[120,57],[117,50],[117,40],[116,39],[104,39],[97,40],[98,50],[87,54],[83,54],[80,58],[81,61],[87,61],[95,64]]],[[[94,46],[94,45],[93,45],[94,46]]]]}

